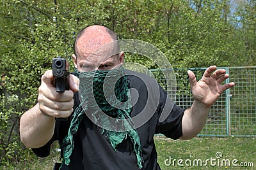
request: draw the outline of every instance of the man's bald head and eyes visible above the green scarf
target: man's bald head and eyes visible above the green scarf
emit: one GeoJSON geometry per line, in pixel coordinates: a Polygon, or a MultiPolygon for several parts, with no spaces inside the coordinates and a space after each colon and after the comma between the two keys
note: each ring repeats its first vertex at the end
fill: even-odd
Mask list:
{"type": "Polygon", "coordinates": [[[124,52],[120,52],[115,32],[101,25],[84,28],[75,41],[72,55],[78,71],[112,69],[123,63],[124,52]]]}

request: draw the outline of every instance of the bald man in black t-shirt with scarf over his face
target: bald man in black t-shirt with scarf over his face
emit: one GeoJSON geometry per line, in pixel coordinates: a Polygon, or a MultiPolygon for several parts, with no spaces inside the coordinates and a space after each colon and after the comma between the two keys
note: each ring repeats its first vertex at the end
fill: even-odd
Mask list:
{"type": "Polygon", "coordinates": [[[172,139],[195,137],[204,127],[211,105],[224,90],[234,86],[234,83],[221,85],[228,74],[225,69],[216,70],[216,66],[207,68],[200,81],[188,71],[195,100],[184,110],[168,98],[156,81],[145,74],[122,69],[124,52],[116,53],[118,46],[111,44],[116,40],[115,32],[100,25],[79,32],[72,55],[77,71],[76,76],[70,75],[70,90],[56,92],[52,71],[46,71],[38,89],[38,103],[20,118],[22,143],[33,148],[36,155],[46,157],[52,141],[59,141],[61,169],[160,169],[154,134],[172,139]],[[105,45],[106,48],[98,50],[105,45]],[[113,78],[118,75],[120,80],[115,81],[113,88],[115,95],[132,108],[111,106],[116,102],[113,96],[109,97],[113,102],[106,104],[102,82],[109,75],[113,78]],[[132,89],[136,89],[138,96],[132,89]],[[91,92],[93,95],[89,95],[91,92]],[[159,121],[162,112],[168,113],[163,122],[159,121]],[[145,113],[150,116],[138,125],[134,117],[145,113]],[[55,119],[60,117],[68,120],[55,119]],[[115,123],[109,123],[111,119],[115,123]]]}

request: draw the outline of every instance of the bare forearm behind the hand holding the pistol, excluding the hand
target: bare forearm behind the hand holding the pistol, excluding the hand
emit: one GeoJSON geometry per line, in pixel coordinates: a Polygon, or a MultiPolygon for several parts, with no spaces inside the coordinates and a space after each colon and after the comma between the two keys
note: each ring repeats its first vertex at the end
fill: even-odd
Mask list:
{"type": "Polygon", "coordinates": [[[20,118],[20,139],[29,148],[44,146],[53,136],[55,118],[40,111],[39,104],[20,118]]]}

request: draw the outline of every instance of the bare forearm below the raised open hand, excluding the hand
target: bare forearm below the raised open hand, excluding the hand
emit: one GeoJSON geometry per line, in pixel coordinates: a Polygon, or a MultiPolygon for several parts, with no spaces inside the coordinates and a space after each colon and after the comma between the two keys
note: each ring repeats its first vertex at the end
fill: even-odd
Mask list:
{"type": "Polygon", "coordinates": [[[184,112],[182,118],[182,136],[180,139],[191,139],[202,131],[209,111],[209,107],[205,107],[204,104],[194,101],[192,106],[184,112]]]}

